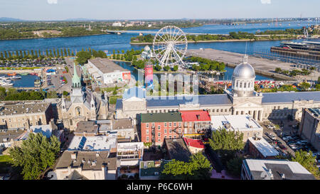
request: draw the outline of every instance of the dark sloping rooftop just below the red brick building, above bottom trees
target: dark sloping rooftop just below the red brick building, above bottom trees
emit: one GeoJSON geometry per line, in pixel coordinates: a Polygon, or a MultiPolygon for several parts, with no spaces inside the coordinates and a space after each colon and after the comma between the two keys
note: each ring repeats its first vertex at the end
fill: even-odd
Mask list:
{"type": "Polygon", "coordinates": [[[177,161],[189,161],[191,152],[182,138],[178,139],[164,139],[164,144],[168,150],[169,159],[176,159],[177,161]]]}

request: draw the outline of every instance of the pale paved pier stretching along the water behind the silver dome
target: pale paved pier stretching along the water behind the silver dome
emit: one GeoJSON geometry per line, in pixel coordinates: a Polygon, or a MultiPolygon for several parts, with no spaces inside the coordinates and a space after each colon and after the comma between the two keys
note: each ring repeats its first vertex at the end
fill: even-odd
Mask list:
{"type": "MultiPolygon", "coordinates": [[[[219,62],[225,63],[232,68],[241,63],[243,57],[243,55],[240,53],[232,53],[224,50],[214,50],[212,48],[206,48],[203,50],[187,50],[186,56],[197,56],[201,58],[208,58],[210,60],[217,60],[219,62]]],[[[248,63],[250,63],[250,65],[255,68],[255,72],[260,75],[277,77],[283,80],[294,80],[293,77],[274,72],[275,68],[281,68],[282,70],[293,70],[295,65],[294,63],[286,63],[279,60],[269,60],[266,58],[258,58],[253,56],[248,57],[248,63]]],[[[306,78],[307,80],[317,80],[319,76],[319,72],[313,72],[311,73],[311,75],[304,77],[304,79],[306,78]]],[[[302,79],[302,77],[299,78],[302,79]]],[[[295,77],[295,79],[298,79],[298,77],[295,77]]]]}

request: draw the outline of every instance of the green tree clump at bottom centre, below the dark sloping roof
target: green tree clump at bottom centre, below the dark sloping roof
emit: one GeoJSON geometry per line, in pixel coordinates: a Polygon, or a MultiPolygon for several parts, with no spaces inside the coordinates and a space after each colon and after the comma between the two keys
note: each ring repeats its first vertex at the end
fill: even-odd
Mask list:
{"type": "Polygon", "coordinates": [[[188,162],[172,160],[164,164],[161,179],[204,180],[210,178],[212,167],[203,153],[193,154],[188,162]]]}

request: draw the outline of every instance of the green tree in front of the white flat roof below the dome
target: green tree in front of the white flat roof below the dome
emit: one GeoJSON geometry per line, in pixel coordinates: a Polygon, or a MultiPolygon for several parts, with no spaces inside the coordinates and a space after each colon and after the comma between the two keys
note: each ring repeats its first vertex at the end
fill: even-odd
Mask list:
{"type": "Polygon", "coordinates": [[[220,154],[221,162],[224,165],[235,157],[237,151],[245,147],[242,133],[239,131],[227,131],[225,128],[214,130],[209,142],[211,149],[220,154]]]}

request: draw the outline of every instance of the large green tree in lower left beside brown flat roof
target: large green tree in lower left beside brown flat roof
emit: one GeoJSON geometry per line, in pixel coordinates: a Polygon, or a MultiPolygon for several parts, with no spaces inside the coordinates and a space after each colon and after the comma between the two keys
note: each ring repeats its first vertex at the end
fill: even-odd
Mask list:
{"type": "Polygon", "coordinates": [[[43,134],[30,133],[21,147],[9,149],[12,164],[22,168],[23,179],[40,179],[48,167],[53,166],[60,151],[60,141],[56,136],[47,139],[43,134]]]}

